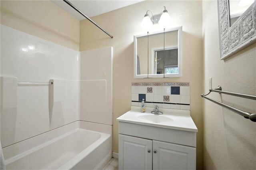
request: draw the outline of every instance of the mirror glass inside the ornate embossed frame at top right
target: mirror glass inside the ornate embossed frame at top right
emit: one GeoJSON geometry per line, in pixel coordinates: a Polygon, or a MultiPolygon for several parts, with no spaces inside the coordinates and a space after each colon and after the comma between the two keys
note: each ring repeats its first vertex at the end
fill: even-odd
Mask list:
{"type": "Polygon", "coordinates": [[[254,0],[229,0],[230,26],[252,5],[254,0]]]}

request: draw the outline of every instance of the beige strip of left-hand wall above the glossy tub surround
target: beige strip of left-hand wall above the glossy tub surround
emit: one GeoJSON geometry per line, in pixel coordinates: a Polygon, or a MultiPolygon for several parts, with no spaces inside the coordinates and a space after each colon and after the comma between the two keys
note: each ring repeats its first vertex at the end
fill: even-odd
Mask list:
{"type": "Polygon", "coordinates": [[[50,0],[1,0],[1,24],[79,51],[79,20],[50,0]]]}

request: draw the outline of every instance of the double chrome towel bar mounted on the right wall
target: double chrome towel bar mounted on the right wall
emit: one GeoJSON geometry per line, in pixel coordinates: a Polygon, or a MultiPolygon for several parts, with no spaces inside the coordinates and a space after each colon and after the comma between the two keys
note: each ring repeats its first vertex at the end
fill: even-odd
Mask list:
{"type": "Polygon", "coordinates": [[[216,101],[214,99],[211,99],[209,97],[206,97],[207,95],[209,95],[211,92],[218,92],[218,93],[223,93],[223,94],[226,94],[226,95],[233,95],[233,96],[237,96],[237,97],[244,97],[244,98],[247,98],[247,99],[253,99],[253,100],[256,100],[256,96],[253,96],[253,95],[246,95],[246,94],[241,94],[241,93],[232,93],[232,92],[227,92],[227,91],[222,91],[221,87],[218,86],[216,87],[215,89],[210,89],[209,90],[210,92],[206,95],[201,95],[202,98],[205,98],[209,101],[212,101],[213,103],[216,103],[217,105],[220,105],[222,107],[225,107],[226,109],[230,110],[230,111],[233,111],[241,116],[243,116],[244,118],[246,119],[250,119],[251,121],[253,122],[256,122],[256,113],[249,113],[249,112],[245,112],[245,111],[242,111],[240,109],[236,109],[235,107],[231,107],[229,105],[226,105],[224,103],[221,103],[219,101],[216,101]]]}

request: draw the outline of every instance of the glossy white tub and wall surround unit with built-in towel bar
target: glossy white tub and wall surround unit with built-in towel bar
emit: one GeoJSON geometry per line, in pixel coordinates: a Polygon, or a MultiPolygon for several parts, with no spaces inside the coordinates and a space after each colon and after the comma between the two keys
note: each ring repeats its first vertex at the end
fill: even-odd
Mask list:
{"type": "Polygon", "coordinates": [[[6,168],[103,168],[112,154],[112,47],[79,52],[2,25],[1,42],[6,168]]]}

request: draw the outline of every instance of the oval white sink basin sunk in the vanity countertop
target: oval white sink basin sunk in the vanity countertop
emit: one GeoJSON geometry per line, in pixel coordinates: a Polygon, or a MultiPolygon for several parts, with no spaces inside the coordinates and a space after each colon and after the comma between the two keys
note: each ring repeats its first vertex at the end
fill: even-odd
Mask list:
{"type": "Polygon", "coordinates": [[[140,115],[137,118],[141,121],[150,122],[150,123],[173,122],[173,119],[165,117],[164,115],[140,115]]]}

